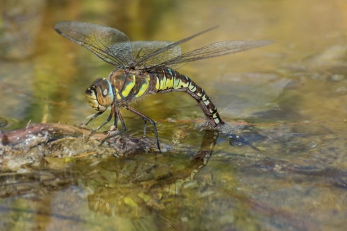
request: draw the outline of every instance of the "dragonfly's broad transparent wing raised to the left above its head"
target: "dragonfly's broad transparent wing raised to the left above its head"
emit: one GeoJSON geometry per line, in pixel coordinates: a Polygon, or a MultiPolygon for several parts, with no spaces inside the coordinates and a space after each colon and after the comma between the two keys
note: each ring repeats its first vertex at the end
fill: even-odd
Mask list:
{"type": "Polygon", "coordinates": [[[56,23],[54,29],[112,65],[127,67],[134,61],[128,36],[115,28],[63,21],[56,23]]]}

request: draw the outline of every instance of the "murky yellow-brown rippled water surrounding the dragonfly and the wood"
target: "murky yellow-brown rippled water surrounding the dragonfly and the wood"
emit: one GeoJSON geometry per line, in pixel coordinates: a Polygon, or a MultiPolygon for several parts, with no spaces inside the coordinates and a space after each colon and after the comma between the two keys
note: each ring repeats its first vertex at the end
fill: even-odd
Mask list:
{"type": "MultiPolygon", "coordinates": [[[[174,151],[42,153],[42,162],[12,170],[2,152],[0,230],[345,230],[346,1],[28,2],[0,3],[1,130],[93,114],[85,88],[113,67],[53,31],[60,20],[112,26],[130,40],[175,41],[219,25],[183,51],[220,40],[275,43],[179,69],[260,151],[201,130],[203,112],[188,95],[149,96],[134,107],[174,151]]],[[[127,133],[141,136],[142,119],[124,118],[127,133]]]]}

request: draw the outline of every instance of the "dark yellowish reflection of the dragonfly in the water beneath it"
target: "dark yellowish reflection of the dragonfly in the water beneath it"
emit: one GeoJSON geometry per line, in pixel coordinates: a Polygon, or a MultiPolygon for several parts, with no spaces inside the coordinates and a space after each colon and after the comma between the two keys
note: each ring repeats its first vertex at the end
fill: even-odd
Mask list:
{"type": "Polygon", "coordinates": [[[90,178],[93,194],[88,196],[90,209],[108,215],[139,218],[152,209],[164,209],[185,185],[196,184],[194,176],[212,155],[217,132],[206,131],[201,149],[180,170],[166,157],[155,155],[146,163],[124,160],[102,164],[98,178],[90,178]]]}

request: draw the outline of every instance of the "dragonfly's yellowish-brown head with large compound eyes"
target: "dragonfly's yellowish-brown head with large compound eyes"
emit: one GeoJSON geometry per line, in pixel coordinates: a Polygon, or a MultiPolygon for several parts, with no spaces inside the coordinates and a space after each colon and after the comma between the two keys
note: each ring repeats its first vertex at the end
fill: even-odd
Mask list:
{"type": "Polygon", "coordinates": [[[105,78],[96,79],[85,90],[85,98],[90,106],[97,111],[103,112],[113,103],[113,91],[110,81],[105,78]]]}

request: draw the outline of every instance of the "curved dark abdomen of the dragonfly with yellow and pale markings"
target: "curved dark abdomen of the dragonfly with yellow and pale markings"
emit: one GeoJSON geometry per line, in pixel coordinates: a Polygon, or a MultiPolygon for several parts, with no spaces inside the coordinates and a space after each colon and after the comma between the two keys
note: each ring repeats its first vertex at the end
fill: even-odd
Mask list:
{"type": "Polygon", "coordinates": [[[206,117],[210,119],[212,125],[219,126],[224,124],[224,121],[219,116],[217,108],[214,106],[205,90],[199,87],[188,76],[167,67],[157,69],[155,72],[157,74],[157,81],[155,83],[156,92],[187,92],[196,99],[206,117]]]}

